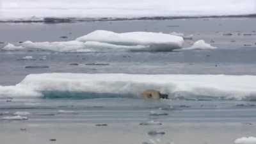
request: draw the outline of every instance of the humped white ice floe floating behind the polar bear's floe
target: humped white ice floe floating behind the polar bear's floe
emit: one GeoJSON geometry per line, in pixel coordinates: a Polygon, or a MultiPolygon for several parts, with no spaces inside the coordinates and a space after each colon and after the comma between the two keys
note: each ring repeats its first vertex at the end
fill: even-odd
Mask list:
{"type": "MultiPolygon", "coordinates": [[[[114,33],[97,30],[88,35],[68,42],[31,42],[26,41],[20,47],[26,49],[44,49],[58,52],[95,52],[95,51],[172,51],[180,49],[184,40],[181,36],[165,33],[129,32],[114,33]]],[[[8,47],[8,45],[6,45],[8,47]]],[[[7,51],[7,48],[3,48],[7,51]]],[[[9,45],[10,47],[10,45],[9,45]]]]}

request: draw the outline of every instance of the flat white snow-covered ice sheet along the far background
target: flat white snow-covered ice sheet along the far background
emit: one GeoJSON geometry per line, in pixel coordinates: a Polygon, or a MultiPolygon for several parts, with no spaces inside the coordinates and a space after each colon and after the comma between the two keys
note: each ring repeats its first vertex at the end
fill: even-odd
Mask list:
{"type": "Polygon", "coordinates": [[[0,12],[0,21],[13,22],[248,15],[255,13],[255,1],[1,0],[0,12]]]}

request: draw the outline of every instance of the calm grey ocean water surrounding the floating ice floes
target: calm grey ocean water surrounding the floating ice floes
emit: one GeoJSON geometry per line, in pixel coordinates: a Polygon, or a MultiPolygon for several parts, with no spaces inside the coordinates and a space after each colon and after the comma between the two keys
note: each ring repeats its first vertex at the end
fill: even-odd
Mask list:
{"type": "MultiPolygon", "coordinates": [[[[186,40],[185,47],[201,39],[218,47],[212,51],[173,52],[1,51],[0,85],[17,84],[28,74],[51,72],[255,75],[255,25],[254,18],[0,23],[0,42],[4,42],[0,47],[8,42],[19,44],[26,40],[74,40],[97,29],[115,32],[175,31],[193,35],[193,40],[186,40]],[[227,33],[232,35],[225,35],[227,33]],[[24,56],[35,59],[20,60],[24,56]],[[47,67],[26,68],[28,66],[47,67]]],[[[93,99],[93,94],[89,97],[60,95],[64,96],[0,99],[1,117],[13,116],[17,111],[29,112],[25,115],[28,120],[0,121],[1,143],[53,143],[49,140],[56,139],[54,143],[231,144],[236,138],[256,134],[254,101],[143,100],[118,95],[93,99]],[[152,111],[166,115],[150,115],[152,111]],[[152,120],[162,125],[140,125],[152,120]],[[108,126],[95,126],[97,124],[108,126]],[[165,134],[150,136],[149,131],[164,131],[165,134]]]]}

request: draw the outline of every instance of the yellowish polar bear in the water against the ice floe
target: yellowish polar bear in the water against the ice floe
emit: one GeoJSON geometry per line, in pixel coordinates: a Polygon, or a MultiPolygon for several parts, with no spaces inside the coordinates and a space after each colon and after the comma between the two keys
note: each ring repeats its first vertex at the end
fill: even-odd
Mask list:
{"type": "Polygon", "coordinates": [[[145,90],[141,93],[141,98],[144,99],[168,99],[168,95],[162,94],[157,90],[145,90]]]}

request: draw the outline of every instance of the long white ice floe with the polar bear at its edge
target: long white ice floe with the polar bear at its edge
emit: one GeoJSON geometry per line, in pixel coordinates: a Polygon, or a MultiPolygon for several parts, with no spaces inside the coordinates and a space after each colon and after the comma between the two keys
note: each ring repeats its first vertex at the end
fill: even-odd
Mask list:
{"type": "Polygon", "coordinates": [[[0,86],[0,97],[105,97],[140,96],[158,90],[179,97],[212,99],[256,99],[256,76],[147,75],[147,74],[29,74],[15,86],[0,86]],[[99,96],[100,95],[100,96],[99,96]]]}

